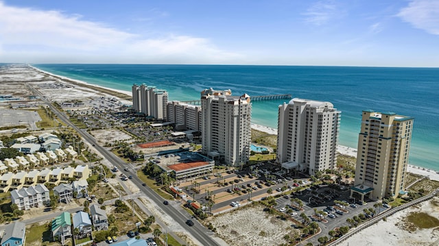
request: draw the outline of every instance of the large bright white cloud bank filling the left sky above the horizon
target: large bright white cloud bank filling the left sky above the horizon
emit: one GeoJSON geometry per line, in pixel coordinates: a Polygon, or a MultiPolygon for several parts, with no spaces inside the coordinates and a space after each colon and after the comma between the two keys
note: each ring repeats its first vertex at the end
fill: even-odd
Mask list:
{"type": "Polygon", "coordinates": [[[215,63],[241,57],[218,49],[206,38],[144,37],[81,16],[17,8],[1,1],[0,54],[0,62],[215,63]]]}

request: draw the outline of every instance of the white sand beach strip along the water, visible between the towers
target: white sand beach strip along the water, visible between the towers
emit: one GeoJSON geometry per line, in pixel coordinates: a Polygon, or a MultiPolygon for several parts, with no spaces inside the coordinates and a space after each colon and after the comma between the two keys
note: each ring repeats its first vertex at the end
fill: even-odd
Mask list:
{"type": "MultiPolygon", "coordinates": [[[[127,102],[128,103],[132,103],[132,100],[127,99],[127,97],[132,98],[132,93],[130,91],[128,91],[128,90],[117,90],[117,89],[114,89],[114,88],[108,88],[108,87],[105,87],[105,86],[99,86],[99,85],[95,85],[95,84],[90,84],[88,82],[84,82],[84,81],[79,80],[79,79],[71,79],[69,77],[65,77],[65,76],[62,76],[62,75],[56,75],[54,73],[49,73],[47,71],[38,69],[38,68],[36,68],[36,67],[34,67],[34,66],[30,65],[30,64],[27,64],[27,66],[29,66],[32,69],[35,69],[36,71],[38,71],[40,73],[43,73],[43,74],[50,75],[52,77],[56,77],[58,79],[61,79],[64,82],[71,82],[71,83],[76,84],[78,86],[85,86],[85,87],[88,87],[88,88],[101,88],[102,90],[108,90],[110,92],[114,92],[115,94],[116,93],[122,94],[122,95],[124,95],[126,97],[121,98],[121,97],[118,97],[115,94],[109,93],[110,95],[112,95],[114,97],[118,97],[121,101],[123,101],[123,103],[127,103],[127,102]]],[[[260,132],[265,132],[267,134],[277,135],[277,129],[272,128],[272,127],[268,127],[268,126],[265,126],[265,125],[259,125],[259,124],[251,123],[251,128],[254,129],[254,130],[258,130],[260,132]]],[[[357,157],[357,149],[355,149],[353,147],[347,147],[347,146],[344,146],[344,145],[337,145],[337,151],[340,154],[342,154],[342,155],[352,156],[352,157],[355,157],[355,158],[357,157]]],[[[426,169],[426,168],[423,168],[423,167],[415,166],[414,164],[408,164],[407,165],[407,172],[415,173],[415,174],[423,175],[423,176],[428,176],[428,177],[431,178],[431,180],[438,180],[439,181],[439,170],[426,169]]]]}

